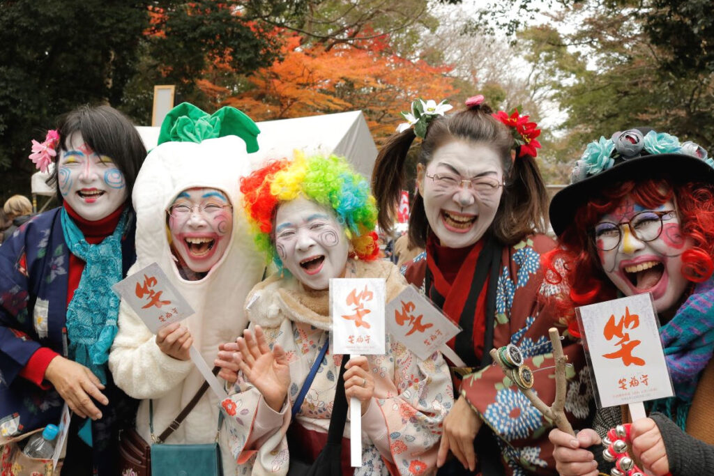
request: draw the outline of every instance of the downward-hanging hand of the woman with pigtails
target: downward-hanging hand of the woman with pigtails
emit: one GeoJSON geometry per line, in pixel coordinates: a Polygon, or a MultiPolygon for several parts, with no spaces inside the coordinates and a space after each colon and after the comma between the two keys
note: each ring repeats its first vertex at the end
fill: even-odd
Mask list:
{"type": "Polygon", "coordinates": [[[449,450],[468,470],[476,470],[476,453],[473,452],[473,440],[481,429],[479,417],[465,397],[458,397],[453,408],[444,418],[444,431],[436,457],[436,465],[443,466],[449,450]]]}

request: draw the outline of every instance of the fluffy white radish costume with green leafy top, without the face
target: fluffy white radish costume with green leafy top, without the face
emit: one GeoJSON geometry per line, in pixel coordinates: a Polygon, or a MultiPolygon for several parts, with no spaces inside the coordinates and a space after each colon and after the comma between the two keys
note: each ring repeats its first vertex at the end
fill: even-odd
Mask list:
{"type": "MultiPolygon", "coordinates": [[[[218,344],[235,340],[246,328],[247,318],[241,312],[243,301],[263,273],[263,260],[247,233],[248,224],[240,206],[239,191],[239,179],[251,169],[248,152],[258,149],[258,132],[258,127],[248,116],[233,108],[222,108],[208,116],[188,103],[176,106],[166,116],[159,146],[146,157],[134,186],[136,263],[129,275],[146,265],[159,263],[171,283],[196,311],[181,323],[183,330],[179,332],[185,334],[182,342],[193,343],[209,365],[216,359],[218,344]],[[175,251],[184,245],[190,248],[190,245],[174,243],[176,248],[171,246],[169,213],[176,216],[172,208],[176,198],[179,195],[186,197],[187,191],[197,188],[222,192],[223,198],[233,207],[232,231],[224,237],[227,243],[209,243],[209,249],[213,245],[218,248],[210,269],[198,275],[187,275],[186,266],[191,268],[192,263],[175,251]],[[224,251],[218,256],[221,250],[224,251]],[[183,268],[182,272],[179,268],[183,268]]],[[[189,204],[188,214],[193,216],[205,211],[202,206],[198,207],[198,212],[196,208],[189,204]]],[[[158,435],[204,381],[187,358],[188,346],[183,350],[186,360],[164,353],[156,336],[122,301],[119,333],[111,348],[109,368],[122,390],[143,400],[136,415],[136,430],[147,442],[151,442],[149,401],[153,400],[154,429],[158,435]]],[[[210,391],[204,393],[166,442],[213,442],[218,409],[216,395],[210,391]]],[[[223,444],[226,434],[221,432],[222,449],[228,447],[223,444]]],[[[224,473],[233,474],[233,457],[226,451],[222,459],[224,473]]]]}

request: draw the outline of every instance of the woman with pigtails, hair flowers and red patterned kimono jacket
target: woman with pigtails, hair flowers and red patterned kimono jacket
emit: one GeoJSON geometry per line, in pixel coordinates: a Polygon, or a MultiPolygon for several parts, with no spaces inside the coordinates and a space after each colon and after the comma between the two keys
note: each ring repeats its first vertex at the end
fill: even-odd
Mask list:
{"type": "MultiPolygon", "coordinates": [[[[553,363],[548,328],[559,325],[567,335],[546,304],[555,290],[542,285],[540,255],[555,243],[542,234],[548,198],[535,163],[540,131],[518,111],[493,114],[483,96],[470,98],[466,106],[444,115],[451,106],[420,100],[405,114],[413,128],[398,129],[373,172],[379,225],[392,226],[405,188],[407,152],[419,136],[408,233],[426,252],[401,270],[461,326],[449,346],[466,363],[452,369],[458,399],[444,420],[439,474],[553,475],[546,437],[550,422],[504,380],[488,354],[494,347],[518,345],[526,365],[546,368],[553,363]],[[449,451],[456,460],[448,459],[449,451]]],[[[565,354],[575,370],[568,385],[576,394],[582,358],[567,339],[565,354]]],[[[552,402],[553,380],[547,372],[541,375],[534,389],[552,402]]],[[[565,409],[575,421],[590,412],[587,404],[570,400],[565,409]]]]}

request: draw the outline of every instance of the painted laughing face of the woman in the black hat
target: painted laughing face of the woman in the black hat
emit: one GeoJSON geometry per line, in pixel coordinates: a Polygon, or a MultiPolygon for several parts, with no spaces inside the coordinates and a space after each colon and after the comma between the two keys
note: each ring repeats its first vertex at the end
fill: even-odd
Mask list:
{"type": "MultiPolygon", "coordinates": [[[[663,217],[662,233],[648,242],[638,240],[628,226],[621,224],[643,211],[671,210],[676,211],[672,201],[653,210],[640,206],[628,196],[595,226],[595,241],[605,275],[626,296],[652,293],[655,309],[660,313],[677,305],[689,284],[682,274],[682,253],[691,248],[692,243],[683,237],[676,212],[663,217]],[[603,251],[599,249],[604,247],[603,240],[607,240],[610,233],[616,233],[609,223],[620,223],[620,243],[612,250],[603,251]]],[[[655,223],[657,217],[650,213],[638,215],[635,223],[642,224],[636,228],[649,226],[646,221],[655,223]]],[[[658,226],[658,222],[655,224],[658,226]]]]}

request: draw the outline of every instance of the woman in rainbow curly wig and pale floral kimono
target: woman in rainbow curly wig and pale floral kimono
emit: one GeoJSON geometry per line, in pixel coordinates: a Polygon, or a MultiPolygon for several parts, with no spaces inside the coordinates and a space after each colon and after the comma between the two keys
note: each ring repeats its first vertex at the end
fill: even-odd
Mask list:
{"type": "MultiPolygon", "coordinates": [[[[240,474],[285,475],[291,458],[311,462],[325,444],[346,358],[325,355],[291,424],[298,389],[328,342],[330,278],[385,278],[387,300],[406,283],[392,263],[376,259],[374,198],[345,159],[298,155],[269,163],[244,178],[241,191],[256,243],[279,272],[248,294],[250,330],[224,346],[223,372],[241,371],[241,391],[224,407],[236,415],[240,474]]],[[[441,354],[421,360],[389,335],[386,348],[386,355],[346,364],[346,397],[358,398],[362,410],[363,466],[354,474],[429,474],[453,398],[448,368],[441,354]]],[[[349,447],[343,442],[346,475],[353,474],[349,447]]]]}

